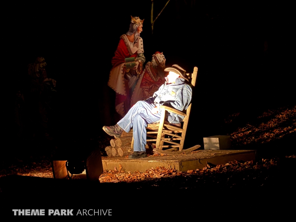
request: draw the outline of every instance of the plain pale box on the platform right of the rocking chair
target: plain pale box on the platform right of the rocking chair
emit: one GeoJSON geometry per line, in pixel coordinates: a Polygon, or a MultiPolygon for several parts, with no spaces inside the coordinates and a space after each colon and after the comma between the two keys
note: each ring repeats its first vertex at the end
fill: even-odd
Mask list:
{"type": "Polygon", "coordinates": [[[205,149],[231,149],[230,136],[204,137],[205,149]]]}

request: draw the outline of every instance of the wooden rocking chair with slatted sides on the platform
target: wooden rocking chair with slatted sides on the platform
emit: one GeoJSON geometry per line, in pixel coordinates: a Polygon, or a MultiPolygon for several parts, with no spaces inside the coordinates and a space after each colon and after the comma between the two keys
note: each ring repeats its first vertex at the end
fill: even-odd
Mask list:
{"type": "MultiPolygon", "coordinates": [[[[194,71],[190,77],[190,74],[186,74],[191,79],[192,87],[195,86],[196,78],[197,78],[197,67],[194,67],[194,71]]],[[[173,109],[167,106],[160,106],[160,109],[164,112],[161,112],[160,120],[156,123],[148,124],[146,127],[147,129],[147,137],[151,137],[153,139],[147,139],[147,144],[155,145],[154,152],[163,153],[163,154],[179,154],[186,151],[193,151],[200,147],[200,145],[196,145],[189,149],[183,150],[184,139],[186,135],[190,110],[191,110],[191,103],[186,110],[186,114],[173,109]],[[171,124],[165,120],[165,112],[170,111],[179,115],[184,116],[183,123],[180,124],[171,124]],[[159,122],[159,123],[158,123],[159,122]],[[155,136],[157,134],[157,136],[155,136]],[[178,141],[180,141],[178,143],[178,141]],[[163,148],[168,148],[163,150],[163,148]],[[179,149],[179,151],[177,151],[179,149]],[[183,150],[183,151],[182,151],[183,150]]],[[[131,149],[133,150],[133,139],[131,143],[131,149]]]]}

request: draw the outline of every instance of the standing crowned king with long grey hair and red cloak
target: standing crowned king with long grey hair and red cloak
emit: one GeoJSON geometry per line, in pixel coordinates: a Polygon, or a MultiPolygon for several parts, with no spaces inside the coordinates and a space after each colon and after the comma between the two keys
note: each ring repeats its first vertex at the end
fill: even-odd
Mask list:
{"type": "Polygon", "coordinates": [[[143,39],[140,37],[144,19],[131,16],[131,23],[112,58],[108,86],[116,92],[115,109],[123,117],[131,107],[131,95],[145,62],[143,39]]]}

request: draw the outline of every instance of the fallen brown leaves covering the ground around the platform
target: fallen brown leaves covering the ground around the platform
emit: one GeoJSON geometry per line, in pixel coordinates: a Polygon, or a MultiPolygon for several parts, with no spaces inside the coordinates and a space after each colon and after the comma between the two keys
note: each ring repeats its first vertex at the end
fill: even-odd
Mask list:
{"type": "MultiPolygon", "coordinates": [[[[225,119],[225,123],[231,124],[238,116],[239,113],[230,115],[225,119]]],[[[230,133],[230,136],[234,146],[242,146],[244,144],[267,143],[289,134],[295,134],[295,132],[296,106],[268,110],[259,116],[255,123],[247,123],[244,127],[237,128],[236,131],[230,133]]],[[[109,139],[99,141],[102,150],[109,145],[109,139]]],[[[277,157],[262,159],[257,163],[234,161],[223,165],[207,164],[203,169],[188,170],[187,172],[178,172],[175,169],[164,167],[147,169],[143,173],[139,171],[125,172],[122,170],[122,166],[118,165],[114,170],[104,171],[99,181],[101,183],[138,182],[141,184],[140,187],[166,186],[179,189],[203,186],[214,188],[262,187],[274,185],[274,181],[278,181],[282,175],[287,177],[290,176],[290,173],[295,175],[295,160],[295,155],[287,155],[281,159],[277,157]]],[[[38,163],[17,160],[16,164],[0,171],[0,177],[10,174],[53,178],[51,163],[46,157],[43,157],[38,163]]]]}

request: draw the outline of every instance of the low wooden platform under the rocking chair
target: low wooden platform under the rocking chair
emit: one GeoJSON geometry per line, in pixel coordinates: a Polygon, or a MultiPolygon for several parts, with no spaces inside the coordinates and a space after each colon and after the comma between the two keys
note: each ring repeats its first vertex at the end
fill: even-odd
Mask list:
{"type": "Polygon", "coordinates": [[[255,161],[256,150],[199,150],[189,154],[148,156],[146,158],[129,160],[127,157],[102,157],[104,170],[122,170],[145,172],[149,168],[164,166],[175,168],[178,171],[202,169],[207,162],[214,165],[228,163],[229,161],[255,161]]]}

